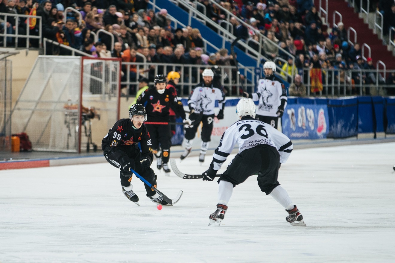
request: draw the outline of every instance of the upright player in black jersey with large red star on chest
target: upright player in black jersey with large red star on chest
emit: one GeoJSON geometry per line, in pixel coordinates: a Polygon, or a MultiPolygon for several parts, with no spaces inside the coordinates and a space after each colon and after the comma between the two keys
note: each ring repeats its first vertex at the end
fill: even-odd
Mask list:
{"type": "MultiPolygon", "coordinates": [[[[155,87],[143,92],[137,99],[138,103],[145,105],[147,109],[147,122],[170,122],[169,109],[173,106],[176,113],[181,116],[183,122],[190,125],[192,122],[186,118],[182,102],[169,89],[166,89],[166,77],[157,75],[154,79],[155,87]]],[[[152,140],[152,149],[161,162],[157,162],[158,169],[163,168],[166,175],[170,175],[169,162],[171,147],[170,124],[146,124],[152,140]],[[159,146],[162,152],[159,151],[159,146]]]]}

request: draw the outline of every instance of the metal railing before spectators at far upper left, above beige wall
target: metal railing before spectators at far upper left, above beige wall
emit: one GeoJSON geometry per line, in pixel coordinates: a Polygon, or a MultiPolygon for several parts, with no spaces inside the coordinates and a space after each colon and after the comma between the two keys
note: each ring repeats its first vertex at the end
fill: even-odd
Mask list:
{"type": "MultiPolygon", "coordinates": [[[[26,49],[30,47],[30,39],[38,39],[38,47],[41,47],[41,39],[42,39],[42,18],[37,15],[19,15],[19,14],[11,14],[11,13],[0,13],[0,16],[4,17],[4,22],[1,22],[4,26],[4,33],[0,33],[0,37],[3,37],[3,47],[10,47],[9,44],[7,45],[7,38],[15,38],[15,45],[14,47],[18,47],[18,40],[19,38],[26,39],[26,49]],[[7,18],[14,17],[15,19],[15,34],[8,34],[7,33],[7,18]],[[26,28],[26,34],[18,34],[19,33],[19,25],[23,24],[21,22],[21,18],[26,18],[26,24],[21,27],[26,28]],[[38,24],[38,36],[30,34],[29,28],[29,20],[30,19],[37,19],[38,24]]],[[[37,26],[36,24],[36,26],[37,26]]]]}

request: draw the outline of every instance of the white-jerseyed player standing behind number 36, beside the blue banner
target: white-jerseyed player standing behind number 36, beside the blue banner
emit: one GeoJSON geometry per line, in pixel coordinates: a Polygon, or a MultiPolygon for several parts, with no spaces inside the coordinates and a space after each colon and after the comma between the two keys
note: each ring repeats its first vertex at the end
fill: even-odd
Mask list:
{"type": "Polygon", "coordinates": [[[248,93],[247,98],[259,101],[256,118],[277,129],[278,118],[282,117],[287,105],[287,91],[282,80],[274,75],[274,62],[265,62],[263,70],[266,77],[259,80],[257,91],[248,93]]]}

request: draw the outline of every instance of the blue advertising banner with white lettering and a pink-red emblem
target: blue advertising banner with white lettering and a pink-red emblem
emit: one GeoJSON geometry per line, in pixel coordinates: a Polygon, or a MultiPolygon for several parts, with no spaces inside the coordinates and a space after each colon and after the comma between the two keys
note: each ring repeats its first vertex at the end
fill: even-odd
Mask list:
{"type": "Polygon", "coordinates": [[[327,105],[288,104],[282,133],[293,139],[325,139],[329,131],[327,105]]]}

